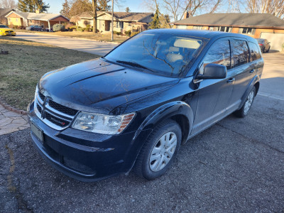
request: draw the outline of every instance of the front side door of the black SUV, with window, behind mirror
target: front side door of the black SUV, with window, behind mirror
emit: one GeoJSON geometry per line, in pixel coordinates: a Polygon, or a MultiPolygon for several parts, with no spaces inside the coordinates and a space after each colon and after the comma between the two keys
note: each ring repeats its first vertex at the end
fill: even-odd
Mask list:
{"type": "Polygon", "coordinates": [[[227,68],[225,79],[203,80],[199,86],[199,97],[192,134],[202,131],[224,116],[229,105],[234,85],[231,70],[230,40],[219,39],[213,43],[205,55],[200,72],[209,63],[224,65],[227,68]]]}

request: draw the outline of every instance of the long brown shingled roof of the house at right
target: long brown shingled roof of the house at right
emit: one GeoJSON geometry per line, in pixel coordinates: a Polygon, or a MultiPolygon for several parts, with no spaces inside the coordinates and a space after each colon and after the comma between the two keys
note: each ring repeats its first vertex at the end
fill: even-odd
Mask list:
{"type": "Polygon", "coordinates": [[[175,25],[284,28],[284,21],[268,13],[207,13],[185,18],[175,25]]]}

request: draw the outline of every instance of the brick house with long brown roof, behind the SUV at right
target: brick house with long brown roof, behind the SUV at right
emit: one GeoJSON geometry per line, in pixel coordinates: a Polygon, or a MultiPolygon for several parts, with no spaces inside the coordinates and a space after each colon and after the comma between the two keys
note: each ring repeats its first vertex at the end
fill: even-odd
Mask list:
{"type": "Polygon", "coordinates": [[[207,13],[173,23],[175,28],[241,33],[266,38],[271,49],[281,50],[284,43],[284,21],[268,13],[207,13]]]}

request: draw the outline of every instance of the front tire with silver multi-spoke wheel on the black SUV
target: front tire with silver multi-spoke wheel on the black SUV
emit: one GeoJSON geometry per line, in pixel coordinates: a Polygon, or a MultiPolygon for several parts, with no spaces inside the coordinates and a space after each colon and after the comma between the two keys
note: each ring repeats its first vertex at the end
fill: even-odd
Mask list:
{"type": "Polygon", "coordinates": [[[163,175],[173,163],[181,139],[182,131],[178,123],[170,119],[163,121],[148,136],[141,148],[133,168],[134,173],[147,180],[163,175]]]}

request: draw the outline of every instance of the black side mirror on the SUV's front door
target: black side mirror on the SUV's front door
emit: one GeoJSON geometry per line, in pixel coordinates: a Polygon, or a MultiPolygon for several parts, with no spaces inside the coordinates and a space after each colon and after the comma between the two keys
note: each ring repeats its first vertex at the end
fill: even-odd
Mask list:
{"type": "Polygon", "coordinates": [[[226,67],[224,65],[208,64],[204,67],[203,75],[197,75],[196,79],[223,79],[226,77],[226,67]]]}

